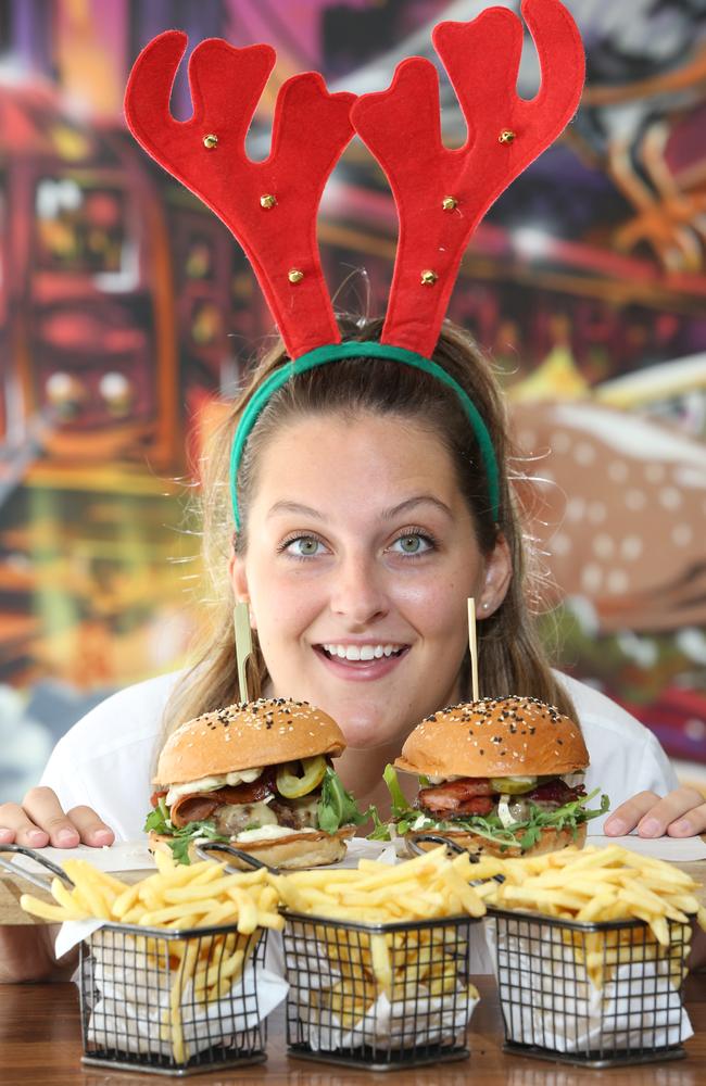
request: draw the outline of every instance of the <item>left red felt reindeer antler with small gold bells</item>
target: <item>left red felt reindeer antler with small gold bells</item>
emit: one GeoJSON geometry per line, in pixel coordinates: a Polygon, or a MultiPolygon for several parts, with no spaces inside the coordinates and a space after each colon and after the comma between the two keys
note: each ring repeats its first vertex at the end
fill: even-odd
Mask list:
{"type": "Polygon", "coordinates": [[[289,354],[339,342],[316,214],[353,132],[355,96],[329,94],[313,72],[288,79],[277,97],[269,157],[252,162],[245,135],[275,63],[274,49],[235,49],[219,38],[202,41],[189,62],[193,116],[177,122],[169,96],[186,47],[185,34],[167,30],[138,56],[125,94],[133,135],[238,239],[289,354]]]}

